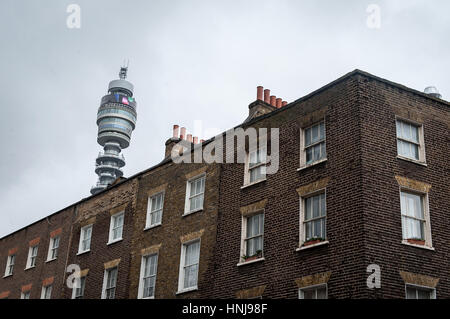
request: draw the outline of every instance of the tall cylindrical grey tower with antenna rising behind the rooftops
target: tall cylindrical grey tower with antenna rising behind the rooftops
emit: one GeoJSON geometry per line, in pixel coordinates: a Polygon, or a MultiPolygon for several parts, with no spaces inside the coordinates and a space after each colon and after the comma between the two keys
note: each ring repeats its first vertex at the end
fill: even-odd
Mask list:
{"type": "Polygon", "coordinates": [[[119,79],[109,82],[108,94],[102,97],[97,112],[97,142],[103,151],[95,160],[97,183],[91,188],[96,194],[122,177],[125,158],[120,152],[130,145],[131,133],[136,126],[136,101],[133,98],[133,84],[128,82],[128,67],[121,67],[119,79]]]}

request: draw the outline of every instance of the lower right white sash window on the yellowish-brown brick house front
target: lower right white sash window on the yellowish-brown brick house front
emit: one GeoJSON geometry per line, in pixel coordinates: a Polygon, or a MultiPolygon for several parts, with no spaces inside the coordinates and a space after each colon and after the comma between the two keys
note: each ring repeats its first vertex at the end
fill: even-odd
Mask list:
{"type": "Polygon", "coordinates": [[[197,289],[198,263],[200,258],[200,240],[183,244],[181,247],[180,292],[197,289]]]}

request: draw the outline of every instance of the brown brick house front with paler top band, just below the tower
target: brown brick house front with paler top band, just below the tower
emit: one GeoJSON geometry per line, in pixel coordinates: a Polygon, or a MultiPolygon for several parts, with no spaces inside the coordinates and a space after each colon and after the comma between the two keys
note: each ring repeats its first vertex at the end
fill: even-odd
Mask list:
{"type": "MultiPolygon", "coordinates": [[[[102,295],[105,264],[120,259],[118,264],[115,297],[128,298],[130,250],[133,215],[136,210],[137,179],[125,181],[90,197],[77,206],[73,224],[73,236],[69,253],[69,264],[88,270],[85,298],[99,299],[102,295]],[[108,245],[111,215],[125,211],[123,240],[108,245]],[[87,253],[78,255],[81,227],[93,224],[91,248],[87,253]]],[[[65,298],[71,298],[72,289],[66,287],[65,298]]]]}

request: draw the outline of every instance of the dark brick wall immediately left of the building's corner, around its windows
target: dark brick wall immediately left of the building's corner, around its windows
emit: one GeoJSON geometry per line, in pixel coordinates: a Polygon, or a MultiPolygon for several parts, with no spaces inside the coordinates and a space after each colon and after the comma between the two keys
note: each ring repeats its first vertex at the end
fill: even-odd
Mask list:
{"type": "Polygon", "coordinates": [[[330,298],[365,296],[360,112],[358,83],[348,79],[295,106],[254,123],[280,128],[280,168],[265,182],[241,189],[244,165],[226,164],[220,185],[214,297],[266,286],[263,297],[297,298],[296,280],[331,272],[330,298]],[[300,128],[325,118],[326,162],[300,167],[300,128]],[[328,245],[299,246],[297,188],[329,178],[326,187],[328,245]],[[240,207],[267,199],[262,262],[238,267],[240,207]]]}

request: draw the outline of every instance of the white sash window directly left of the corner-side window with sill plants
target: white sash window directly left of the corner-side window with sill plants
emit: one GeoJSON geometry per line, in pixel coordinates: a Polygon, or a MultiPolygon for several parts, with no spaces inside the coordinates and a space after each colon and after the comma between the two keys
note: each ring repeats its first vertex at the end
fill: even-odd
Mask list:
{"type": "Polygon", "coordinates": [[[243,217],[244,237],[242,242],[241,262],[249,258],[257,259],[263,256],[264,213],[243,217]]]}

